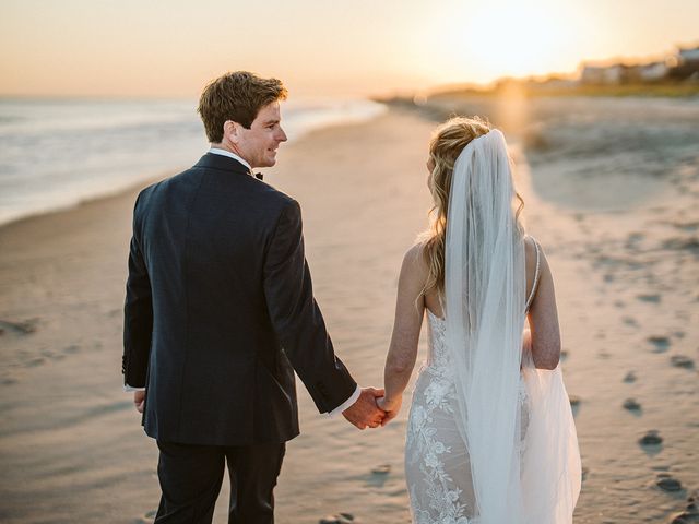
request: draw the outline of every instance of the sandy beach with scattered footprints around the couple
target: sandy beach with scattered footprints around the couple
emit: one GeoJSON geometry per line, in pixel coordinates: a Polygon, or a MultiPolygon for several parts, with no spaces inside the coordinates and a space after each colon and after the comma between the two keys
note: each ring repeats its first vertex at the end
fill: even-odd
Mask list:
{"type": "MultiPolygon", "coordinates": [[[[631,119],[619,130],[596,124],[583,103],[561,100],[565,111],[542,104],[543,124],[525,126],[523,115],[502,127],[512,136],[528,230],[557,287],[585,472],[576,522],[671,522],[699,489],[698,105],[617,104],[631,119]],[[653,108],[695,136],[659,142],[666,128],[647,126],[659,120],[653,108]],[[578,114],[590,119],[585,140],[577,139],[588,130],[578,114]],[[609,129],[636,136],[641,156],[620,156],[629,142],[611,142],[609,129]],[[608,148],[592,154],[584,144],[608,148]],[[641,443],[649,431],[662,442],[641,443]],[[662,489],[663,479],[679,489],[662,489]]],[[[595,104],[599,115],[611,110],[595,104]]],[[[451,107],[447,100],[438,109],[451,107]]],[[[490,110],[497,114],[470,112],[490,110]]],[[[424,111],[394,108],[283,145],[279,165],[264,171],[301,203],[316,297],[339,355],[365,385],[382,383],[401,260],[427,225],[434,127],[424,111]]],[[[0,228],[3,523],[153,520],[157,449],[120,374],[135,194],[0,228]]],[[[340,512],[367,524],[410,522],[403,442],[411,391],[394,422],[360,432],[319,415],[299,388],[301,436],[287,446],[277,522],[316,523],[340,512]]],[[[216,522],[225,522],[227,489],[226,480],[216,522]]]]}

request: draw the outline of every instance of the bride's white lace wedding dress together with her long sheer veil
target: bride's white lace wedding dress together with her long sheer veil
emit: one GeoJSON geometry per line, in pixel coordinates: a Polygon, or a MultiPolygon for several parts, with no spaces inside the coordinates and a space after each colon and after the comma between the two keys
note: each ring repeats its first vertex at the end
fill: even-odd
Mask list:
{"type": "Polygon", "coordinates": [[[522,355],[524,239],[493,130],[460,154],[446,239],[445,319],[413,393],[405,476],[415,524],[569,524],[580,454],[560,366],[522,355]]]}

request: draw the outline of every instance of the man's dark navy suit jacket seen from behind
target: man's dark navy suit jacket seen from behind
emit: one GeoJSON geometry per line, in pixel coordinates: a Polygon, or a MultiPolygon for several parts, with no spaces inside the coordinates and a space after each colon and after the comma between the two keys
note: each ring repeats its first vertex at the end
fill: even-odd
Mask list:
{"type": "Polygon", "coordinates": [[[321,413],[356,389],[313,299],[298,203],[212,153],[139,194],[123,347],[145,432],[166,442],[293,439],[294,370],[321,413]]]}

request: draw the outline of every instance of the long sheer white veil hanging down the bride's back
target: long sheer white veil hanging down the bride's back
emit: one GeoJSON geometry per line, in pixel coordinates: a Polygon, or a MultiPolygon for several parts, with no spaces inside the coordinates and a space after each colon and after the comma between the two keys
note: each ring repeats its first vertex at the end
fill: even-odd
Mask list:
{"type": "Polygon", "coordinates": [[[558,384],[557,379],[552,381],[535,370],[531,359],[522,361],[526,281],[523,229],[513,211],[514,195],[502,133],[491,130],[472,140],[454,164],[445,252],[446,336],[455,369],[455,418],[471,463],[474,522],[561,524],[572,522],[579,486],[577,491],[574,485],[562,490],[568,498],[560,510],[557,497],[561,490],[554,488],[566,484],[568,475],[576,475],[570,456],[578,449],[577,441],[574,450],[570,446],[570,427],[574,437],[574,426],[572,416],[565,416],[570,406],[562,379],[558,384]],[[523,427],[522,364],[529,365],[524,377],[533,379],[526,384],[528,390],[530,383],[535,385],[532,393],[536,402],[550,400],[548,395],[554,393],[559,412],[553,419],[537,410],[523,427]],[[569,424],[564,431],[568,437],[565,444],[559,442],[557,429],[550,431],[550,426],[559,422],[569,424]],[[530,445],[533,438],[541,442],[530,445]],[[557,445],[555,456],[541,455],[544,445],[552,443],[557,445]],[[530,449],[533,454],[524,456],[530,449]],[[562,473],[561,462],[566,463],[562,473]],[[535,468],[546,471],[545,483],[535,478],[535,468]],[[523,474],[535,485],[525,485],[523,474]],[[547,516],[568,511],[568,519],[547,516]]]}

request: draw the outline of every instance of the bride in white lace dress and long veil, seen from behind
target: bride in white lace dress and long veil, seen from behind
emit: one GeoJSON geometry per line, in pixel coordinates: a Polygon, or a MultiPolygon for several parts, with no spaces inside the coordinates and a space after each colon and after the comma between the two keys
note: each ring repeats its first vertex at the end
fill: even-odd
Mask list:
{"type": "Polygon", "coordinates": [[[403,260],[379,405],[383,424],[399,413],[427,310],[429,356],[405,442],[413,521],[571,523],[580,454],[554,283],[520,224],[505,136],[452,118],[434,134],[427,169],[431,228],[403,260]]]}

